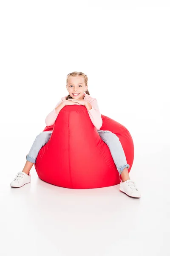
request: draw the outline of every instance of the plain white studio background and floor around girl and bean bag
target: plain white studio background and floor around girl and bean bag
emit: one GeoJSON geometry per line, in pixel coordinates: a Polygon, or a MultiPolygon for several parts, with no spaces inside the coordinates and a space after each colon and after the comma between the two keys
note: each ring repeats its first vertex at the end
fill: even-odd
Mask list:
{"type": "Polygon", "coordinates": [[[1,1],[0,254],[170,255],[169,87],[169,1],[1,1]],[[130,131],[140,199],[52,186],[34,166],[9,186],[73,71],[130,131]]]}

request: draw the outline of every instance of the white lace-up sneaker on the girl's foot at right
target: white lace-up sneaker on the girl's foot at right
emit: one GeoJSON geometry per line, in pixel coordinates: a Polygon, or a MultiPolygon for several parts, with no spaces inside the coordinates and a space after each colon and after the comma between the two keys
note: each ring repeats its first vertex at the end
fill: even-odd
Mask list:
{"type": "Polygon", "coordinates": [[[121,181],[119,184],[119,191],[122,191],[131,197],[141,197],[141,193],[139,192],[139,189],[137,189],[136,183],[132,180],[126,180],[124,182],[121,181]]]}

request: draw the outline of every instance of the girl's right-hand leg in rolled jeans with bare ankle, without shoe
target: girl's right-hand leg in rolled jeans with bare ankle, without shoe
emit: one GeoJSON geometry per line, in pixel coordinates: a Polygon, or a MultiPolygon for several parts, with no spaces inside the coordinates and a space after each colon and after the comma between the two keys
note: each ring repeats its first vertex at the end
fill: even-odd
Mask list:
{"type": "Polygon", "coordinates": [[[130,165],[127,164],[125,152],[122,148],[122,144],[119,141],[119,137],[117,137],[116,134],[113,134],[111,131],[98,130],[97,132],[99,133],[102,140],[108,145],[111,151],[114,163],[119,172],[119,178],[121,175],[123,182],[130,179],[129,173],[127,171],[130,165]]]}

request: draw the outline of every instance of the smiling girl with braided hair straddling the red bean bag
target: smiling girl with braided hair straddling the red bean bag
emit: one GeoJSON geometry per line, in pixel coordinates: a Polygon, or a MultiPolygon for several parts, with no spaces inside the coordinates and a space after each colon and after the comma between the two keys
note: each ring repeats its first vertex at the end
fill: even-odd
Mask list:
{"type": "MultiPolygon", "coordinates": [[[[91,122],[96,127],[99,136],[108,145],[114,163],[121,175],[122,181],[119,184],[119,190],[127,195],[135,198],[140,198],[140,192],[136,187],[136,183],[130,180],[129,164],[126,162],[126,157],[122,144],[116,134],[111,131],[102,131],[102,117],[99,111],[97,100],[90,96],[88,91],[88,77],[82,72],[72,72],[67,75],[66,88],[68,90],[68,96],[63,97],[45,118],[46,125],[53,125],[59,111],[67,105],[83,105],[87,108],[91,122]]],[[[42,131],[35,139],[29,153],[26,155],[26,164],[22,172],[18,172],[14,180],[11,182],[11,187],[21,187],[26,183],[31,182],[30,170],[34,165],[38,152],[46,143],[52,134],[52,131],[42,131]]],[[[120,179],[121,180],[121,179],[120,179]]]]}

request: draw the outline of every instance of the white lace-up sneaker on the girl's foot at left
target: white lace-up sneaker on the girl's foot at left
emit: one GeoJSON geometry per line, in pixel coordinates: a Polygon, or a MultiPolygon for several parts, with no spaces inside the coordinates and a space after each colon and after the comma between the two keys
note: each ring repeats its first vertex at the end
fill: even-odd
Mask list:
{"type": "Polygon", "coordinates": [[[27,175],[25,172],[18,172],[14,180],[10,183],[11,187],[20,188],[21,186],[31,182],[30,172],[27,175]]]}

